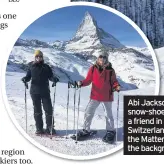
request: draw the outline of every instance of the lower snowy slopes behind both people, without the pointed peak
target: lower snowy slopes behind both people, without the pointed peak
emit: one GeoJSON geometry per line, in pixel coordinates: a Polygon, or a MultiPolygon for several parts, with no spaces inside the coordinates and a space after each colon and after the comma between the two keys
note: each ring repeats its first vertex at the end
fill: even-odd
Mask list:
{"type": "MultiPolygon", "coordinates": [[[[82,80],[92,63],[76,53],[58,51],[53,48],[40,48],[44,60],[60,80],[82,80]]],[[[30,61],[34,60],[35,47],[15,46],[8,60],[7,71],[22,72],[30,61]]],[[[109,52],[109,61],[117,73],[123,90],[154,87],[155,74],[152,59],[134,49],[113,50],[109,52]]]]}

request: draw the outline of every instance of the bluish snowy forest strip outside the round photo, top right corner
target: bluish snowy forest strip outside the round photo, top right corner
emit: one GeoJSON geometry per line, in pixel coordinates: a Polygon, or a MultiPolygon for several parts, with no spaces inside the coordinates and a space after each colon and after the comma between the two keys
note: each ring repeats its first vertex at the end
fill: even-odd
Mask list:
{"type": "Polygon", "coordinates": [[[97,2],[115,8],[132,19],[154,48],[164,46],[164,0],[72,0],[97,2]]]}

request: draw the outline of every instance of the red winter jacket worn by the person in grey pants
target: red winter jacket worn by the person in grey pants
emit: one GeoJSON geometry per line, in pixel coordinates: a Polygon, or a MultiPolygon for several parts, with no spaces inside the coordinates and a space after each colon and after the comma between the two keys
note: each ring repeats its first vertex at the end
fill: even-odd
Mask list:
{"type": "Polygon", "coordinates": [[[97,101],[113,101],[112,90],[119,83],[116,79],[116,74],[109,64],[99,71],[98,65],[90,67],[86,79],[82,81],[82,86],[87,86],[92,83],[90,98],[97,101]]]}

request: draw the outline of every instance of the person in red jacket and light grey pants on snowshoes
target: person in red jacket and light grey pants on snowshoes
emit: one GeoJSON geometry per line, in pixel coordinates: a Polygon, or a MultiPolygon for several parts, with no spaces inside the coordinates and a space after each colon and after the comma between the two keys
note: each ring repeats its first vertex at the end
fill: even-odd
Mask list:
{"type": "Polygon", "coordinates": [[[112,114],[113,90],[120,91],[120,85],[116,79],[116,74],[108,62],[107,56],[100,55],[96,63],[90,67],[87,77],[83,81],[79,81],[78,85],[85,87],[92,83],[90,102],[84,115],[83,131],[78,133],[80,136],[88,136],[90,125],[96,108],[100,103],[103,104],[106,111],[106,130],[107,133],[103,137],[103,141],[108,142],[114,139],[114,119],[112,114]]]}

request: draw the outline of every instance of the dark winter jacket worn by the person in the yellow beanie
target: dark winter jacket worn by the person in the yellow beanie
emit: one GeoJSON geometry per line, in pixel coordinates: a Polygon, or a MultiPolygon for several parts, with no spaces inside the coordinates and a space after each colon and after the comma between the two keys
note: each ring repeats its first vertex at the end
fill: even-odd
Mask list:
{"type": "Polygon", "coordinates": [[[31,80],[30,94],[49,94],[49,80],[54,82],[52,69],[49,65],[31,62],[24,80],[31,80]]]}

